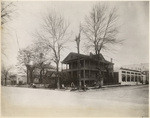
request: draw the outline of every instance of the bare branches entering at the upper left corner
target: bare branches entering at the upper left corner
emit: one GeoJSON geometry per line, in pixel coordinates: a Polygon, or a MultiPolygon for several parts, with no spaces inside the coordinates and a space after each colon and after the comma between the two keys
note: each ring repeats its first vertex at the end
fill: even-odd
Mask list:
{"type": "Polygon", "coordinates": [[[12,13],[15,11],[13,2],[1,2],[1,25],[11,20],[12,13]]]}

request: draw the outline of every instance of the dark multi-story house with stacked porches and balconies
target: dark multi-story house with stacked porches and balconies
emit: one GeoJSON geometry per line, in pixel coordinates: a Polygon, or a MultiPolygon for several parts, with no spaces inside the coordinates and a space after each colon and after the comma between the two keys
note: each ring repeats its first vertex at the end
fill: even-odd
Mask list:
{"type": "Polygon", "coordinates": [[[113,63],[106,61],[100,54],[100,66],[98,67],[98,58],[96,55],[83,55],[78,53],[70,53],[63,61],[62,64],[66,65],[66,72],[69,78],[75,85],[92,86],[98,81],[98,73],[100,68],[103,75],[102,84],[111,84],[113,82],[113,63]]]}

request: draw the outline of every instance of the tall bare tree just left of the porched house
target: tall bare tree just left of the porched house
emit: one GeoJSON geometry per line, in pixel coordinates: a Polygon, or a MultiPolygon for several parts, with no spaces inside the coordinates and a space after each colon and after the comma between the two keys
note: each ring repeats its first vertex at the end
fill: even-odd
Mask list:
{"type": "Polygon", "coordinates": [[[49,13],[43,17],[42,31],[36,32],[35,37],[38,39],[37,44],[43,48],[50,50],[52,53],[52,61],[56,64],[57,71],[57,88],[60,88],[59,79],[59,63],[61,51],[65,43],[69,39],[68,31],[69,24],[58,13],[49,13]]]}

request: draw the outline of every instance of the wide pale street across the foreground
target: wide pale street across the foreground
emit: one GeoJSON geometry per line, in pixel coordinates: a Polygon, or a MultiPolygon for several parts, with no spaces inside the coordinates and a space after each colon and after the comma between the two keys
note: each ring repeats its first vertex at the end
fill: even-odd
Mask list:
{"type": "Polygon", "coordinates": [[[2,87],[4,116],[148,116],[148,85],[70,92],[2,87]]]}

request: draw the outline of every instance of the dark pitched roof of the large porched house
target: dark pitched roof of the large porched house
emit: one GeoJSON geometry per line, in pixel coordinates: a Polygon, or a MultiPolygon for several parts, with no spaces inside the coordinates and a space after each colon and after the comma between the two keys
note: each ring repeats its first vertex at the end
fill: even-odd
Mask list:
{"type": "MultiPolygon", "coordinates": [[[[69,53],[68,56],[62,61],[62,63],[67,64],[68,62],[74,61],[74,60],[77,60],[77,59],[89,59],[89,60],[98,61],[98,55],[93,55],[93,54],[84,55],[84,54],[78,54],[78,53],[71,52],[71,53],[69,53]]],[[[103,57],[102,54],[100,54],[100,61],[103,62],[103,63],[111,63],[111,62],[109,62],[109,61],[106,61],[106,60],[104,59],[104,57],[103,57]]]]}

